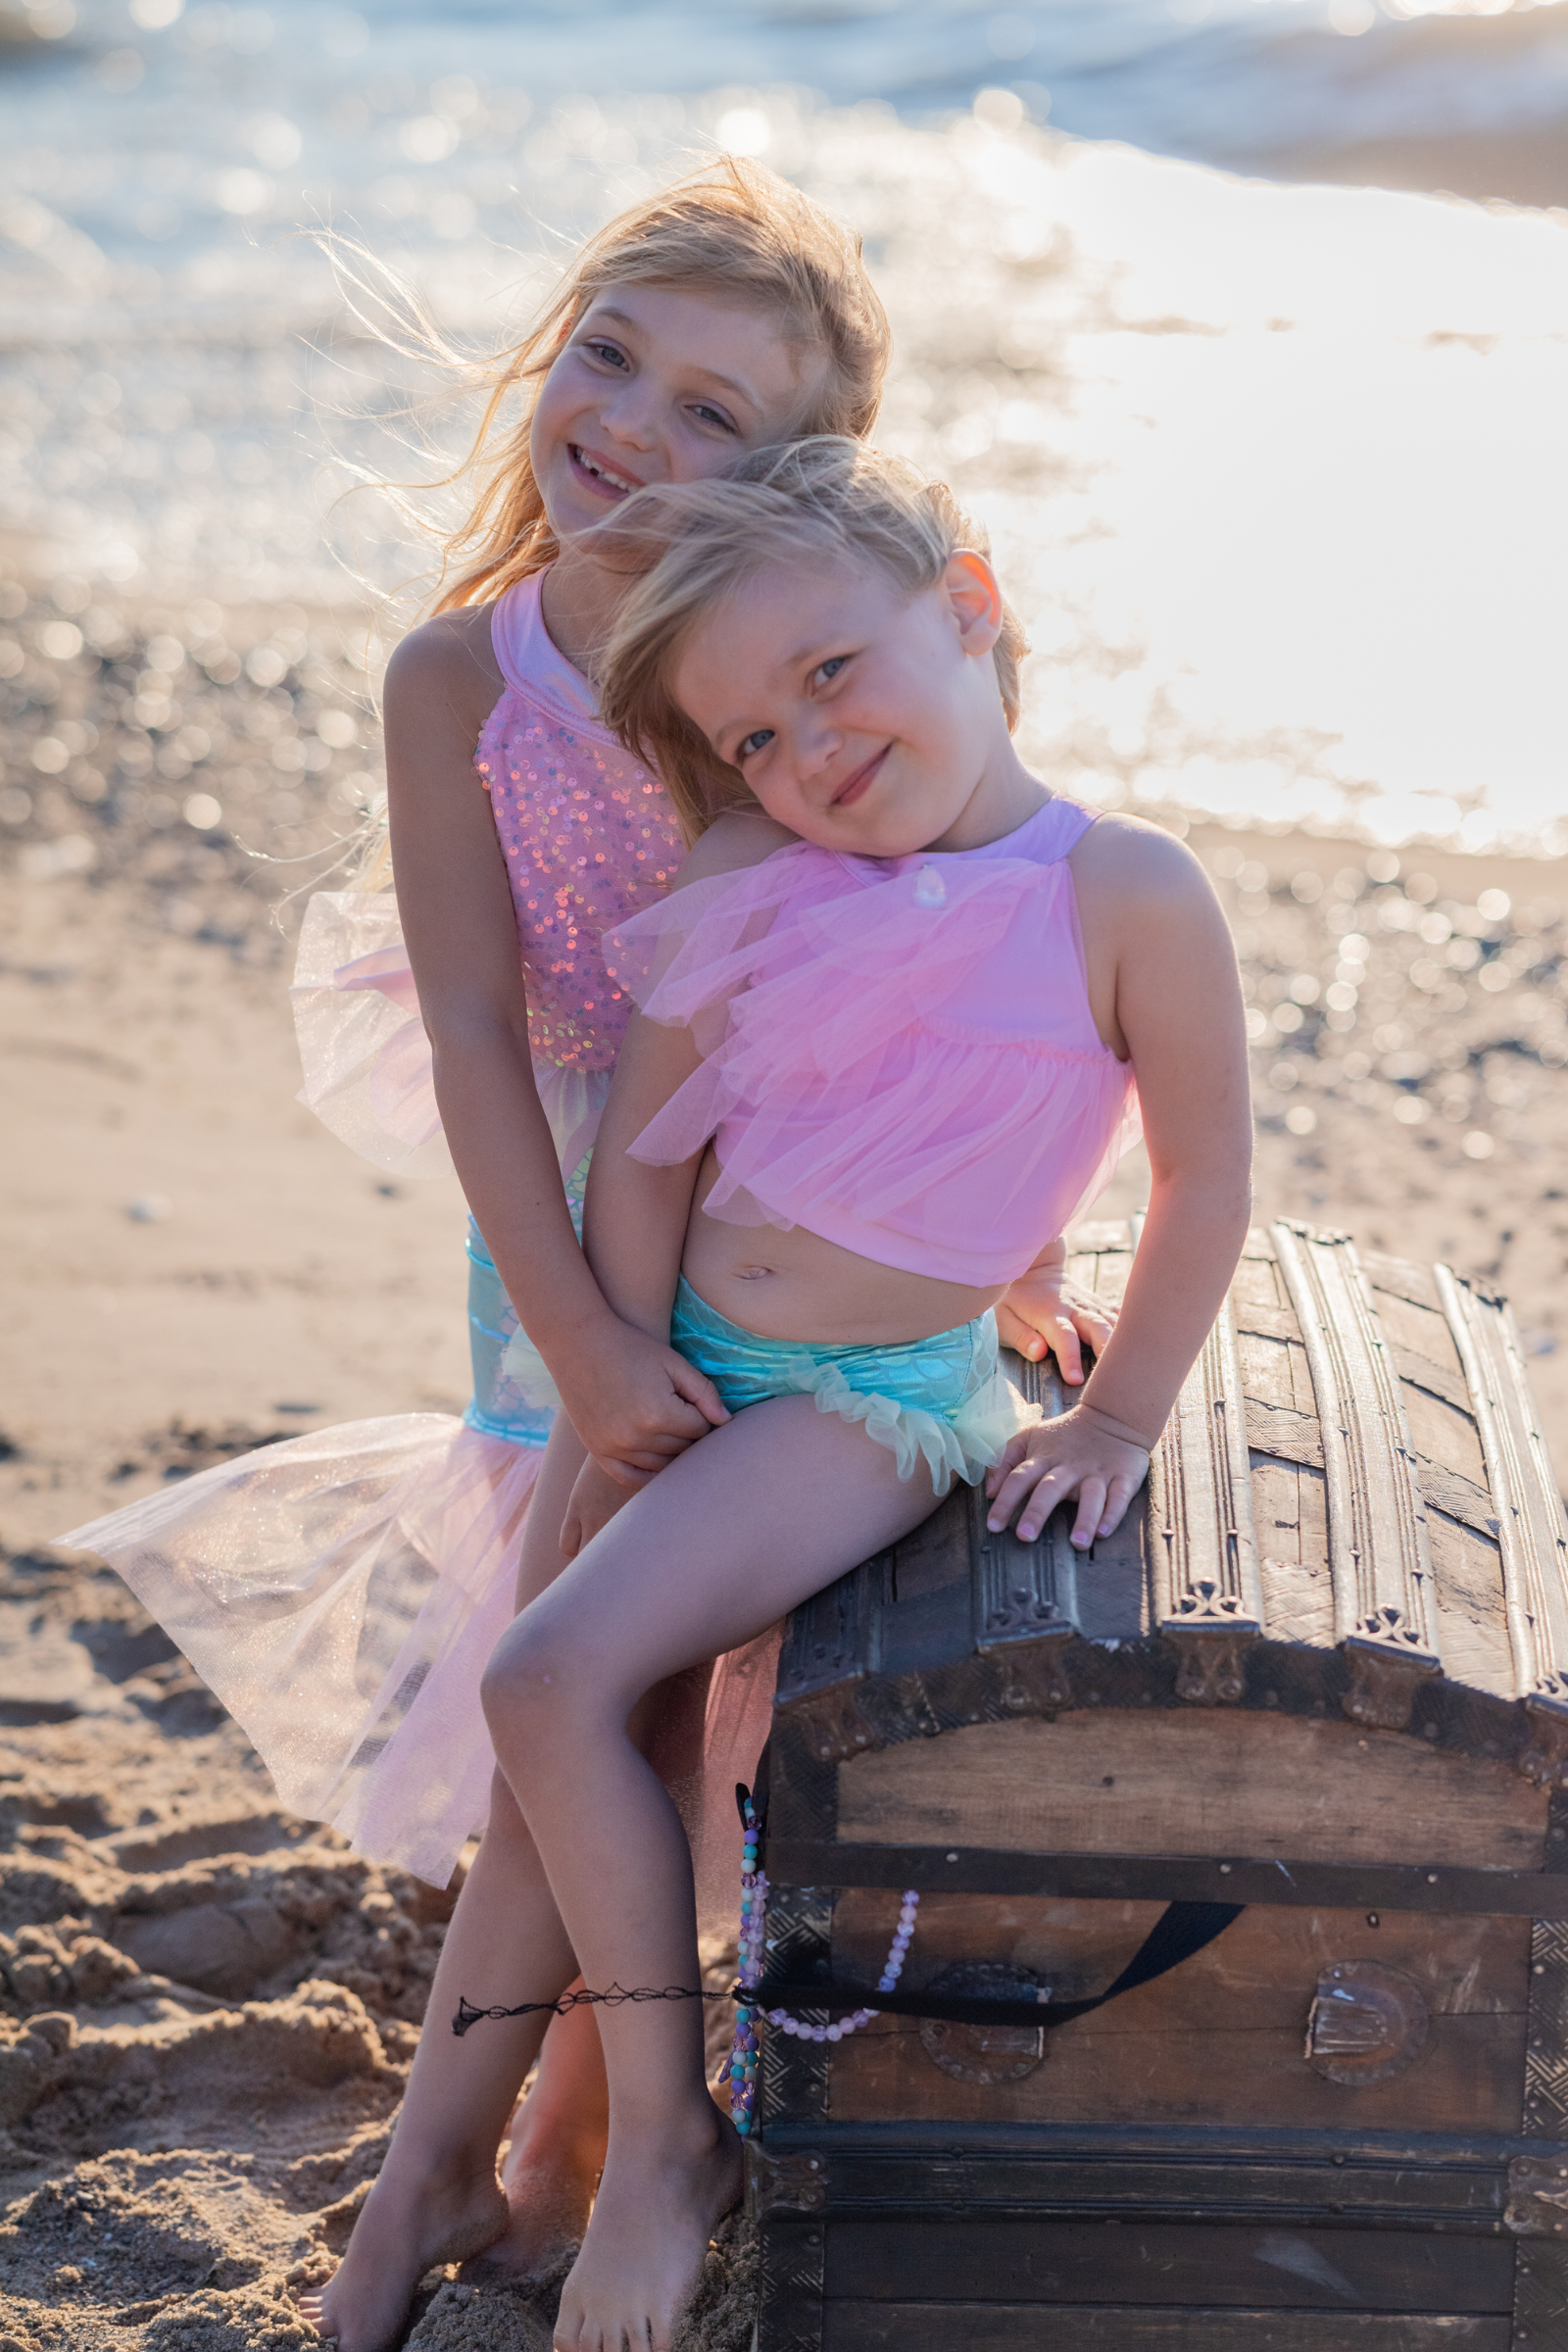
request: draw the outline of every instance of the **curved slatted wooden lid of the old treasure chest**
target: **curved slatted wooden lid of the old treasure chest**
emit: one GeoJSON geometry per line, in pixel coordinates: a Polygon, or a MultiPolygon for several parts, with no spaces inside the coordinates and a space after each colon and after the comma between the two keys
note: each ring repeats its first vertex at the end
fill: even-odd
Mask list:
{"type": "MultiPolygon", "coordinates": [[[[1135,1225],[1074,1235],[1119,1296],[1135,1225]]],[[[1053,1369],[1011,1359],[1044,1414],[1053,1369]]],[[[1150,1468],[1079,1557],[950,1498],[790,1618],[783,1722],[818,1759],[1063,1708],[1345,1715],[1568,1783],[1568,1515],[1502,1298],[1276,1223],[1150,1468]]]]}

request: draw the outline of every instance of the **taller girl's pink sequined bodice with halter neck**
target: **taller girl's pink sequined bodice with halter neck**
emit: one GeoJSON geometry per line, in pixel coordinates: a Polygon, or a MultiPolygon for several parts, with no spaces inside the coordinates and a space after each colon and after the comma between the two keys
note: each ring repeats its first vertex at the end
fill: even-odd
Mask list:
{"type": "Polygon", "coordinates": [[[541,574],[498,600],[505,691],[475,750],[505,854],[529,990],[529,1049],[562,1070],[611,1070],[632,1000],[599,938],[670,889],[684,842],[651,774],[599,724],[592,687],[555,649],[541,574]]]}

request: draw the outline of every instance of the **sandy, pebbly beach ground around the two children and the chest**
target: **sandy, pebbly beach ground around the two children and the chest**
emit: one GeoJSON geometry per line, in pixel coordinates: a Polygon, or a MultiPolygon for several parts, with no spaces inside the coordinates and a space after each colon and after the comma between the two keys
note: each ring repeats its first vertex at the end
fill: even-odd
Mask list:
{"type": "MultiPolygon", "coordinates": [[[[334,781],[341,807],[360,790],[364,750],[313,748],[350,701],[327,637],[313,654],[303,616],[282,623],[296,663],[263,687],[226,677],[209,635],[207,668],[174,673],[186,708],[150,727],[146,642],[120,670],[52,659],[59,619],[12,616],[26,670],[0,736],[0,786],[31,802],[0,877],[0,2352],[284,2352],[310,2340],[292,2288],[329,2267],[386,2145],[449,1898],[282,1816],[129,1595],[49,1536],[268,1437],[456,1409],[461,1202],[381,1183],[292,1103],[282,877],[226,830],[249,811],[306,847],[334,781]],[[223,826],[186,823],[193,790],[223,826]],[[299,797],[275,809],[301,793],[303,823],[299,797]]],[[[143,637],[176,623],[193,642],[181,616],[143,637]]],[[[1260,1030],[1260,1214],[1512,1291],[1568,1465],[1568,884],[1439,854],[1378,882],[1363,847],[1302,835],[1192,842],[1260,1030]]],[[[1103,1214],[1138,1190],[1133,1164],[1103,1214]]],[[[738,2352],[745,2293],[731,2239],[693,2343],[738,2352]]],[[[409,2345],[543,2352],[548,2298],[430,2279],[409,2345]]]]}

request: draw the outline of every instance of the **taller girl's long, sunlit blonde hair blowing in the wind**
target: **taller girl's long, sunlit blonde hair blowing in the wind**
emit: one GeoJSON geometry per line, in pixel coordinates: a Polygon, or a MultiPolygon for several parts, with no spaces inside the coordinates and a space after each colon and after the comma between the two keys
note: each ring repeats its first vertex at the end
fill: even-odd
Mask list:
{"type": "Polygon", "coordinates": [[[719,155],[590,238],[529,334],[491,365],[468,454],[442,485],[473,480],[475,496],[444,536],[433,612],[484,604],[559,553],[529,459],[534,402],[581,315],[614,285],[701,287],[766,313],[785,343],[827,360],[799,430],[875,426],[891,334],[860,238],[766,165],[719,155]],[[503,426],[520,390],[522,414],[503,426]]]}

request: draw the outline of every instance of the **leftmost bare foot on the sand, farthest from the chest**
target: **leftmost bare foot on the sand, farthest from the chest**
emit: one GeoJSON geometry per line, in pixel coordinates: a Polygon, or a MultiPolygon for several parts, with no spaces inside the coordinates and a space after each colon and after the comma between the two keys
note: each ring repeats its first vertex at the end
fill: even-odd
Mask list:
{"type": "Polygon", "coordinates": [[[327,2286],[299,2298],[301,2319],[339,2352],[390,2352],[414,2288],[440,2263],[465,2263],[503,2237],[508,2204],[489,2180],[400,2180],[381,2173],[327,2286]]]}

